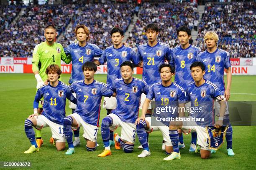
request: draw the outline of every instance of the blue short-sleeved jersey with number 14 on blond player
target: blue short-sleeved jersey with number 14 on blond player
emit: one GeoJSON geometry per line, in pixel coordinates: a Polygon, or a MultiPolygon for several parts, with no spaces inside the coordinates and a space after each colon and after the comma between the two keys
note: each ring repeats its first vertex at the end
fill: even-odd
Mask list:
{"type": "Polygon", "coordinates": [[[205,50],[197,56],[197,60],[205,64],[204,78],[213,82],[224,93],[224,68],[231,67],[228,52],[219,48],[212,53],[205,50]]]}

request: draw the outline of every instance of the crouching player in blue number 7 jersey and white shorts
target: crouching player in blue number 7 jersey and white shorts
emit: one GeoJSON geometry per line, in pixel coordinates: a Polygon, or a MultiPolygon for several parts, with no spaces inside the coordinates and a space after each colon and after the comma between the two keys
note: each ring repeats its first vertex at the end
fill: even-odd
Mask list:
{"type": "Polygon", "coordinates": [[[97,66],[93,62],[85,62],[82,65],[82,70],[84,80],[76,81],[70,86],[72,92],[75,92],[77,96],[77,108],[63,121],[63,130],[69,145],[66,155],[74,153],[72,128],[76,130],[81,126],[84,129],[83,137],[87,141],[87,150],[94,151],[96,149],[101,98],[102,96],[110,97],[113,95],[113,91],[106,84],[94,80],[97,66]]]}

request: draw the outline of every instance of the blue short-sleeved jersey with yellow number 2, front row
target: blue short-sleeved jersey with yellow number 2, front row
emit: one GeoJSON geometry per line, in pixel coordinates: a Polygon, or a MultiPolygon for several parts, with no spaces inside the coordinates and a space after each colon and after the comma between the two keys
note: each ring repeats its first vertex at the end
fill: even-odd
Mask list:
{"type": "Polygon", "coordinates": [[[116,92],[117,106],[111,113],[117,115],[123,122],[135,123],[138,118],[141,94],[148,94],[148,86],[143,80],[133,77],[126,84],[123,78],[116,79],[111,89],[116,92]]]}

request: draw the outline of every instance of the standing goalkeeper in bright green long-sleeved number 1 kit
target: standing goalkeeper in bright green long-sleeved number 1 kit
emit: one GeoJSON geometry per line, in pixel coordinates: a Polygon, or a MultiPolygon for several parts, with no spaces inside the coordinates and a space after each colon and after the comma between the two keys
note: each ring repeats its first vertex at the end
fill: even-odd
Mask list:
{"type": "MultiPolygon", "coordinates": [[[[65,63],[69,63],[71,61],[71,58],[67,58],[62,45],[54,42],[57,36],[57,30],[53,25],[48,25],[44,29],[44,36],[46,41],[36,45],[32,58],[32,70],[36,77],[37,89],[42,87],[44,84],[47,84],[47,75],[45,70],[49,65],[56,64],[61,67],[61,60],[65,63]]],[[[43,102],[43,99],[39,102],[39,114],[42,112],[43,102]]],[[[39,148],[43,144],[43,140],[41,139],[41,130],[36,130],[36,142],[39,148]]]]}

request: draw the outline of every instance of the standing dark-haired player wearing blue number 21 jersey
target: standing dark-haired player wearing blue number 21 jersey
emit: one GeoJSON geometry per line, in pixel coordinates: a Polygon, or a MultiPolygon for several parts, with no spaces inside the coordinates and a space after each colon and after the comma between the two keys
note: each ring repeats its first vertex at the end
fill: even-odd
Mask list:
{"type": "MultiPolygon", "coordinates": [[[[148,24],[144,30],[148,38],[148,43],[138,46],[137,55],[139,59],[143,61],[142,80],[144,80],[150,87],[154,83],[161,82],[158,68],[165,62],[165,60],[169,62],[174,53],[169,45],[157,41],[159,28],[156,24],[148,24]]],[[[142,108],[145,99],[146,95],[142,94],[140,108],[142,108]]],[[[146,117],[151,117],[151,109],[152,107],[150,103],[146,117]]],[[[138,148],[142,148],[142,146],[139,146],[138,148]]]]}

